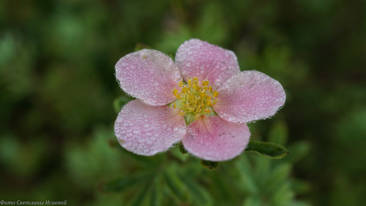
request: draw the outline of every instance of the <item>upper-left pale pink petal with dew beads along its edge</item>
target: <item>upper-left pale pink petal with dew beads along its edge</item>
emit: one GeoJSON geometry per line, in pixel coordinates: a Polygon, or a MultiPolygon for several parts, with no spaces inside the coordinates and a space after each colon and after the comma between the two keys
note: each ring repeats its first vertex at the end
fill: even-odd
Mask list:
{"type": "Polygon", "coordinates": [[[142,49],[122,57],[115,68],[121,88],[146,104],[161,106],[176,100],[171,89],[177,86],[179,70],[163,53],[142,49]]]}

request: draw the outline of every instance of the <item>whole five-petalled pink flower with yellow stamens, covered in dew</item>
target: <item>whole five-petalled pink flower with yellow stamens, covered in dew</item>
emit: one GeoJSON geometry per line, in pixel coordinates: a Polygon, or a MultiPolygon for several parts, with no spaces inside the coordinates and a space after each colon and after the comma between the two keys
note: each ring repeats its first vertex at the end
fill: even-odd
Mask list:
{"type": "Polygon", "coordinates": [[[234,52],[198,39],[179,46],[175,63],[157,50],[142,49],[122,57],[115,68],[121,88],[138,98],[118,114],[115,135],[139,155],[152,156],[182,141],[203,160],[230,160],[249,142],[246,123],[275,115],[286,99],[277,80],[240,72],[234,52]],[[209,116],[212,110],[219,116],[209,116]],[[184,116],[193,123],[187,126],[184,116]]]}

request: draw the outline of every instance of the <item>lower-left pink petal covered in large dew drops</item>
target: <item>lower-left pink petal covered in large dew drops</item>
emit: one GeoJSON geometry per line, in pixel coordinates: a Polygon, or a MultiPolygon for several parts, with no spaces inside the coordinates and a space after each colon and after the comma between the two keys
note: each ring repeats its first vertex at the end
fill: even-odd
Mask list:
{"type": "Polygon", "coordinates": [[[178,113],[168,106],[152,107],[132,100],[117,116],[115,135],[126,150],[152,156],[169,149],[186,134],[184,118],[178,113]]]}

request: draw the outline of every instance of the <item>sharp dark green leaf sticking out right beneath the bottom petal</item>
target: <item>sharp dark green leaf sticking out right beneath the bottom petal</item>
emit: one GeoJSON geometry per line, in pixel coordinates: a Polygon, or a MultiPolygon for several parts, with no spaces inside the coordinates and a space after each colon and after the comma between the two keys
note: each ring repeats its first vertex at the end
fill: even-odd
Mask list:
{"type": "Polygon", "coordinates": [[[254,152],[263,157],[268,157],[271,159],[281,159],[288,154],[285,147],[277,145],[272,142],[258,142],[250,141],[247,148],[244,150],[246,152],[254,152]]]}

